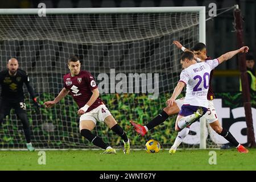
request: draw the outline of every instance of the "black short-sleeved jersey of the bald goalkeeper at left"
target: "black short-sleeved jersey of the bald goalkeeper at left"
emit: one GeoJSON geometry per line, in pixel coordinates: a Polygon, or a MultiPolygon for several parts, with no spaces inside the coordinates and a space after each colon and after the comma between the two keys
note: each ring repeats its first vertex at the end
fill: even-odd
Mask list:
{"type": "Polygon", "coordinates": [[[23,84],[27,86],[30,80],[27,73],[18,69],[15,76],[10,76],[8,69],[0,72],[1,96],[3,100],[20,102],[24,100],[23,84]]]}

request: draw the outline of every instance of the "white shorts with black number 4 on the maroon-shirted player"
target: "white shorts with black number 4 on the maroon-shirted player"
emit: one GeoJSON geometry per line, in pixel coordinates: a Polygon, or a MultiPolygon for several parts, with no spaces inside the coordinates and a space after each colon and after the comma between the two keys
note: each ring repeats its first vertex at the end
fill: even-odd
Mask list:
{"type": "Polygon", "coordinates": [[[85,120],[93,121],[96,125],[97,121],[104,122],[106,117],[112,115],[104,104],[96,107],[95,109],[89,111],[88,113],[82,114],[80,117],[80,122],[85,120]]]}

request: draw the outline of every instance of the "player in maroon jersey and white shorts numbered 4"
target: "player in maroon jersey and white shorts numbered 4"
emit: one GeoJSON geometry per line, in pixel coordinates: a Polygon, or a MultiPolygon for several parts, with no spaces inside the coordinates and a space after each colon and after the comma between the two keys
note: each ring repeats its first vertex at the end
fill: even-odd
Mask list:
{"type": "Polygon", "coordinates": [[[100,99],[96,82],[92,75],[87,71],[81,71],[81,63],[77,56],[72,56],[68,60],[70,73],[64,75],[64,88],[53,101],[44,102],[46,107],[52,107],[62,98],[71,94],[79,106],[77,114],[80,115],[79,129],[83,137],[88,139],[94,145],[103,148],[102,154],[116,154],[114,148],[106,144],[100,137],[92,134],[97,121],[105,122],[114,133],[118,134],[124,143],[123,152],[130,153],[130,142],[125,131],[113,118],[108,108],[100,99]]]}

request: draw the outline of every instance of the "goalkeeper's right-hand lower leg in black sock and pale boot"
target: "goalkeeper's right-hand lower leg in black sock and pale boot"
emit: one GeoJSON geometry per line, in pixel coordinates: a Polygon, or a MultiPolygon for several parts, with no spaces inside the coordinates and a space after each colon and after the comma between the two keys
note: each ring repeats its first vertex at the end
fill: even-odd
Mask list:
{"type": "Polygon", "coordinates": [[[19,113],[17,114],[18,118],[20,119],[20,121],[22,122],[22,126],[23,126],[23,131],[24,131],[24,135],[25,138],[27,140],[27,150],[28,151],[35,151],[35,148],[32,146],[31,143],[31,135],[30,135],[30,125],[28,123],[28,118],[27,118],[27,114],[26,113],[19,113]]]}

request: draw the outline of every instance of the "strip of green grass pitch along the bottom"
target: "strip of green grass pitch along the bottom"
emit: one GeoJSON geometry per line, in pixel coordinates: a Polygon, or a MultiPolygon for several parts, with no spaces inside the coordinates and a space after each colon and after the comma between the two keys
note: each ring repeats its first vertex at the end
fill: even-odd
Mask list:
{"type": "Polygon", "coordinates": [[[0,151],[0,170],[256,170],[256,149],[240,154],[235,149],[216,151],[217,164],[209,164],[210,150],[168,150],[147,154],[131,150],[124,155],[101,155],[101,150],[46,151],[46,164],[39,165],[39,151],[0,151]]]}

